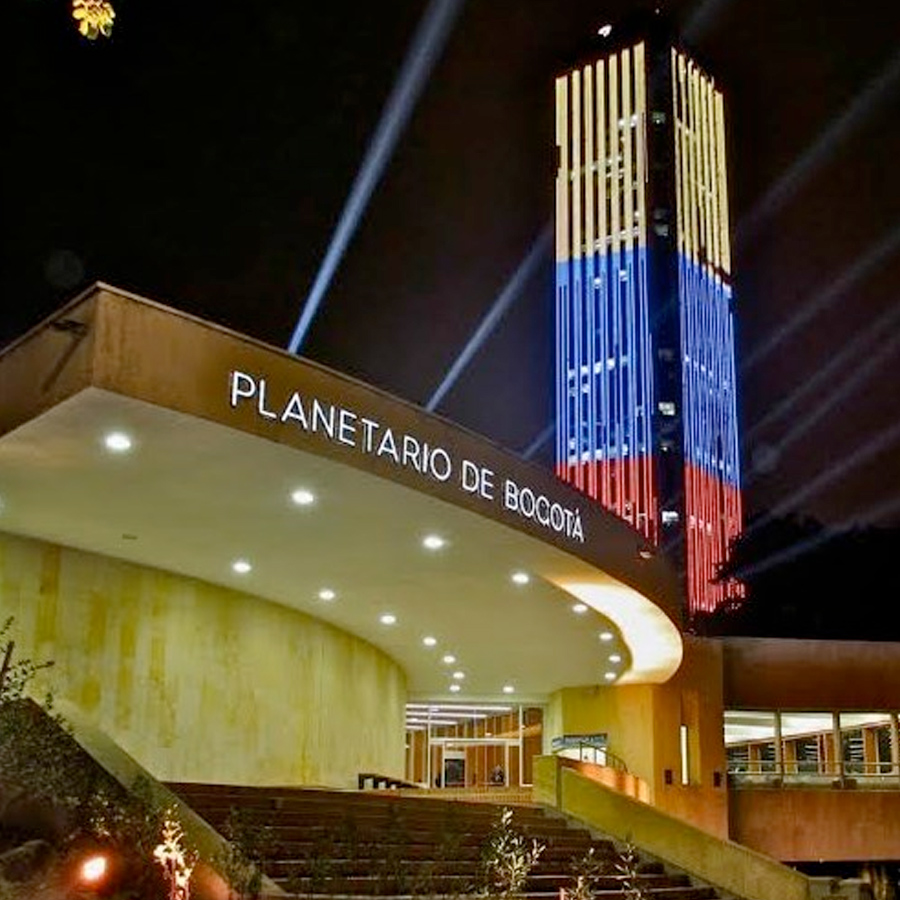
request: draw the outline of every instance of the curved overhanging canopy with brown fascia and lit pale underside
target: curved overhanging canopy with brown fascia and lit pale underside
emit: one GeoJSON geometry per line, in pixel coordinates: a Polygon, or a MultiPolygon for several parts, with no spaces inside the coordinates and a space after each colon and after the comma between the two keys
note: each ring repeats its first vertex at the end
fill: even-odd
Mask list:
{"type": "Polygon", "coordinates": [[[508,685],[504,699],[539,699],[677,668],[671,573],[552,475],[358,382],[111,289],[55,322],[0,354],[0,529],[325,619],[395,658],[413,697],[496,698],[508,685]],[[112,431],[130,436],[129,451],[104,446],[112,431]],[[315,501],[295,504],[298,488],[315,501]],[[427,535],[446,543],[428,550],[427,535]],[[252,569],[235,572],[239,559],[252,569]],[[321,599],[325,589],[335,597],[321,599]],[[586,612],[573,612],[579,601],[586,612]]]}

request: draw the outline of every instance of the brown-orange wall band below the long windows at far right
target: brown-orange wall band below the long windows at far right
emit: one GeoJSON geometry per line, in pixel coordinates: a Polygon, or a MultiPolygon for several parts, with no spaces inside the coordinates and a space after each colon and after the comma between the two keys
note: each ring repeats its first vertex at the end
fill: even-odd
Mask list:
{"type": "Polygon", "coordinates": [[[900,791],[734,791],[731,828],[734,840],[785,862],[896,860],[900,791]]]}

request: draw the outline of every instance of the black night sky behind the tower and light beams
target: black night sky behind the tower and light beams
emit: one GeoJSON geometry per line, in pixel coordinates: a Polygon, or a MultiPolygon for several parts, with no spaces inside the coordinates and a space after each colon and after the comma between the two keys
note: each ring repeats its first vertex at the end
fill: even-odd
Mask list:
{"type": "MultiPolygon", "coordinates": [[[[114,5],[95,43],[59,0],[4,7],[0,343],[104,280],[284,346],[425,4],[114,5]]],[[[427,401],[549,221],[560,61],[633,7],[468,0],[305,355],[427,401]]],[[[739,353],[831,297],[741,379],[745,429],[811,385],[747,442],[748,505],[804,491],[801,512],[839,523],[900,497],[900,319],[866,333],[900,300],[900,5],[666,8],[684,27],[700,7],[686,43],[729,104],[739,353]],[[851,127],[760,216],[848,108],[851,127]]],[[[440,411],[528,446],[552,415],[552,321],[548,259],[440,411]]]]}

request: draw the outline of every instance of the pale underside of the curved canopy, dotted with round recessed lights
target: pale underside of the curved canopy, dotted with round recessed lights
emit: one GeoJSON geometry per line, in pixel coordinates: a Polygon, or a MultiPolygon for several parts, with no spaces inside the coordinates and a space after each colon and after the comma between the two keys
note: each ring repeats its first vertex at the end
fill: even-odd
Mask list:
{"type": "Polygon", "coordinates": [[[411,697],[536,700],[610,670],[627,678],[615,627],[593,609],[573,613],[574,598],[547,580],[602,582],[592,566],[426,494],[141,401],[91,388],[0,438],[0,501],[0,530],[225,585],[352,632],[406,670],[411,697]],[[105,449],[112,430],[132,437],[131,451],[105,449]],[[292,503],[300,487],[313,505],[292,503]],[[423,549],[429,533],[447,546],[423,549]],[[239,558],[251,572],[232,571],[239,558]],[[517,570],[531,581],[514,584],[517,570]],[[325,587],[332,602],[318,598],[325,587]],[[393,626],[379,621],[388,612],[393,626]],[[599,640],[604,630],[613,641],[599,640]],[[457,662],[442,663],[445,653],[457,662]],[[465,679],[451,694],[457,670],[465,679]]]}

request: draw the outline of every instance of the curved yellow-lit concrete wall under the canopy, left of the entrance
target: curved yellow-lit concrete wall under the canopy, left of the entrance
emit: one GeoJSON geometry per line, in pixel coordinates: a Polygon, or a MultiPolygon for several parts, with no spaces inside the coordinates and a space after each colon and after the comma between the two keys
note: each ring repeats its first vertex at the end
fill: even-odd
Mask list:
{"type": "Polygon", "coordinates": [[[55,661],[47,685],[160,780],[403,776],[404,673],[303,613],[0,533],[7,616],[22,656],[55,661]]]}

